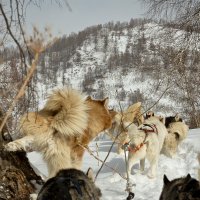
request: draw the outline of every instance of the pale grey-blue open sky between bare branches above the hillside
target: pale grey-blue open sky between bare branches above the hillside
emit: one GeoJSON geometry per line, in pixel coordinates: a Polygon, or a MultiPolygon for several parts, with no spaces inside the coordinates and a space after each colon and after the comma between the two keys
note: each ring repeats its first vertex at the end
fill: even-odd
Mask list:
{"type": "Polygon", "coordinates": [[[50,27],[53,35],[61,36],[109,21],[129,22],[131,18],[144,17],[144,5],[139,0],[67,0],[69,6],[51,2],[44,1],[40,7],[31,5],[27,8],[27,32],[32,26],[41,31],[50,27]]]}

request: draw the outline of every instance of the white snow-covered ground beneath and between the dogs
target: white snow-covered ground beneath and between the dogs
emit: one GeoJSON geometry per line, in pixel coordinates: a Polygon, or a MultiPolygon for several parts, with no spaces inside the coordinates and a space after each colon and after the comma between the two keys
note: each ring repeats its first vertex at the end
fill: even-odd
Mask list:
{"type": "MultiPolygon", "coordinates": [[[[101,160],[104,160],[108,154],[112,142],[105,138],[93,141],[90,144],[90,148],[95,156],[98,156],[101,160]]],[[[133,187],[135,193],[135,200],[158,200],[162,186],[163,175],[166,174],[171,180],[181,176],[185,176],[188,173],[192,177],[198,178],[197,169],[199,163],[197,160],[197,151],[200,151],[200,129],[192,129],[189,131],[188,138],[186,138],[180,145],[178,154],[175,158],[171,159],[164,155],[160,156],[158,174],[156,179],[149,179],[146,176],[148,163],[146,164],[145,172],[141,174],[138,171],[139,165],[133,167],[131,181],[136,184],[133,187]]],[[[47,174],[45,163],[42,161],[41,156],[35,152],[29,153],[28,157],[31,163],[44,175],[47,174]]],[[[125,175],[125,159],[124,155],[118,155],[116,153],[116,147],[111,150],[106,165],[100,171],[96,179],[96,185],[101,188],[102,200],[124,200],[127,197],[126,180],[122,176],[125,175]],[[111,169],[111,168],[115,169],[111,169]],[[119,173],[119,174],[118,174],[119,173]]],[[[92,167],[94,172],[97,173],[101,167],[101,162],[96,160],[88,152],[85,153],[83,170],[87,171],[88,167],[92,167]]]]}

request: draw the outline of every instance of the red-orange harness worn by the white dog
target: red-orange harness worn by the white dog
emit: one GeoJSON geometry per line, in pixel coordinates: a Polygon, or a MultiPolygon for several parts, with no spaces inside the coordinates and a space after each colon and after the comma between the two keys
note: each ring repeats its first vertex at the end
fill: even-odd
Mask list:
{"type": "Polygon", "coordinates": [[[139,130],[142,130],[142,131],[145,132],[145,138],[144,138],[143,142],[141,144],[137,145],[134,148],[130,146],[130,141],[131,140],[129,142],[126,142],[123,146],[127,151],[132,152],[132,153],[137,152],[138,150],[140,150],[147,143],[146,139],[147,139],[147,136],[148,136],[149,133],[158,134],[158,129],[157,129],[155,124],[143,124],[143,126],[147,126],[147,127],[151,128],[151,129],[147,129],[145,127],[139,128],[139,130]]]}

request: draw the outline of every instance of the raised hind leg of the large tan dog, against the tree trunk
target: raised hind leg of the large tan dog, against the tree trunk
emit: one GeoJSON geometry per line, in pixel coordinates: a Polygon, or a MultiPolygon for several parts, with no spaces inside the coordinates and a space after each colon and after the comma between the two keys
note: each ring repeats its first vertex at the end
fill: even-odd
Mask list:
{"type": "Polygon", "coordinates": [[[32,151],[33,136],[25,136],[21,139],[9,142],[4,147],[7,151],[20,151],[24,150],[26,152],[32,151]]]}

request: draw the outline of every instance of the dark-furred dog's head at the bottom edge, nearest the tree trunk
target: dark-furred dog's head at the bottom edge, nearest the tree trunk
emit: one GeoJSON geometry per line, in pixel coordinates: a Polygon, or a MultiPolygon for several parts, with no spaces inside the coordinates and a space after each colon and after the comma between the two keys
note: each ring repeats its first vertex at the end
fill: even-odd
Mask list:
{"type": "Polygon", "coordinates": [[[101,191],[91,173],[91,168],[87,174],[77,169],[60,170],[43,185],[37,200],[99,200],[101,191]]]}

